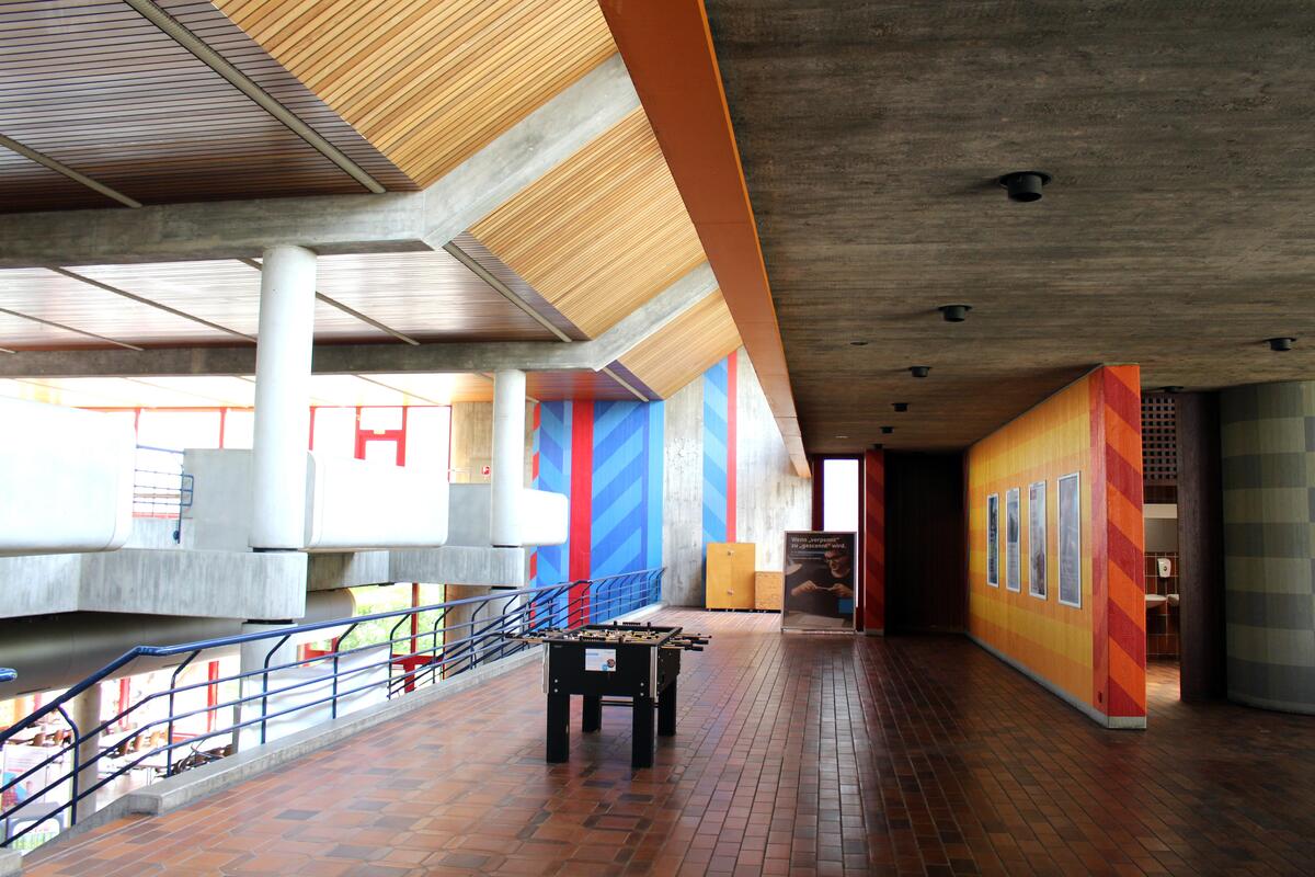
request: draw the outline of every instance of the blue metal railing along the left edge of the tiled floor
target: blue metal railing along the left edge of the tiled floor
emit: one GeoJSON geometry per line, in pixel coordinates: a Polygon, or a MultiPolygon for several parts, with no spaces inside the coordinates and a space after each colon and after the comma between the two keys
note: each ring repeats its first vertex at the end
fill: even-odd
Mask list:
{"type": "MultiPolygon", "coordinates": [[[[459,673],[471,671],[481,664],[500,660],[523,648],[525,643],[509,640],[506,634],[526,634],[554,627],[577,627],[585,623],[610,621],[626,613],[655,604],[661,596],[663,569],[642,569],[636,572],[621,573],[594,580],[581,580],[562,582],[544,588],[522,588],[518,590],[494,590],[479,597],[451,600],[430,606],[400,609],[372,615],[355,615],[337,621],[317,622],[313,625],[297,625],[280,627],[271,631],[238,634],[217,639],[183,643],[179,646],[138,646],[114,659],[101,669],[96,671],[83,681],[67,689],[37,711],[21,719],[7,731],[0,732],[0,746],[36,727],[39,722],[53,719],[57,714],[63,719],[71,731],[71,739],[55,748],[45,760],[32,765],[24,773],[14,776],[0,785],[0,799],[11,790],[17,790],[21,784],[38,777],[33,785],[41,788],[26,789],[25,801],[16,802],[0,809],[0,824],[7,824],[14,815],[21,815],[21,810],[29,802],[39,801],[45,795],[55,792],[63,785],[68,785],[68,799],[59,806],[47,807],[42,811],[43,818],[54,819],[67,811],[68,824],[76,824],[79,818],[78,805],[122,777],[129,770],[138,768],[147,760],[159,760],[163,755],[163,773],[166,776],[180,769],[192,767],[192,756],[175,761],[175,751],[188,746],[193,756],[197,747],[205,740],[227,738],[231,746],[225,747],[231,751],[239,739],[247,743],[242,731],[256,738],[259,744],[268,739],[271,723],[276,719],[297,713],[318,710],[310,715],[310,721],[329,721],[337,718],[343,701],[379,692],[383,697],[392,699],[405,696],[417,686],[433,685],[441,678],[450,678],[459,673]],[[422,614],[437,613],[437,617],[427,625],[427,630],[418,630],[398,634],[402,626],[422,614]],[[396,619],[388,632],[388,638],[377,643],[367,643],[354,648],[342,648],[346,639],[360,625],[373,621],[396,619]],[[279,651],[288,644],[292,638],[305,639],[306,634],[323,632],[333,635],[333,650],[308,659],[285,660],[279,651]],[[270,643],[264,652],[260,667],[239,668],[239,672],[218,678],[206,678],[197,682],[180,684],[183,672],[192,665],[196,659],[206,651],[216,648],[231,648],[234,646],[249,646],[252,643],[270,643]],[[397,646],[404,651],[397,652],[397,646]],[[410,651],[405,651],[409,648],[410,651]],[[371,652],[381,652],[376,659],[371,652]],[[350,667],[343,667],[345,659],[360,656],[352,660],[350,667]],[[179,657],[180,661],[170,677],[170,686],[160,692],[153,692],[124,707],[109,719],[103,721],[93,728],[79,728],[70,715],[71,701],[101,681],[112,676],[125,676],[125,671],[138,657],[168,659],[179,657]],[[297,668],[316,667],[321,673],[306,673],[292,671],[297,668]],[[225,701],[208,702],[205,707],[191,710],[176,710],[179,694],[197,692],[209,686],[218,686],[225,682],[238,682],[238,696],[225,701]],[[327,693],[321,696],[321,692],[327,693]],[[300,693],[301,697],[285,697],[289,693],[300,693]],[[305,696],[310,697],[306,698],[305,696]],[[292,701],[291,706],[284,706],[280,699],[292,701]],[[147,705],[166,703],[164,715],[153,715],[139,727],[132,730],[117,740],[112,748],[97,748],[96,755],[84,759],[83,744],[96,740],[108,728],[122,726],[147,705]],[[231,710],[233,719],[225,727],[213,727],[208,723],[204,734],[189,735],[187,739],[178,739],[175,728],[179,722],[199,719],[212,714],[218,718],[221,713],[231,710]],[[128,753],[133,740],[150,740],[160,736],[163,742],[153,748],[138,749],[128,753]],[[143,736],[145,735],[145,736],[143,736]],[[110,752],[125,753],[122,763],[113,764],[110,752]],[[129,757],[130,755],[130,757],[129,757]],[[71,757],[70,757],[71,756],[71,757]],[[153,759],[154,756],[154,759],[153,759]],[[67,767],[64,761],[68,761],[67,767]],[[54,778],[46,776],[50,768],[55,768],[54,778]],[[95,770],[91,770],[95,768],[95,770]],[[103,774],[103,769],[105,773],[103,774]],[[85,774],[91,772],[91,778],[85,774]],[[45,785],[41,785],[45,782],[45,785]]],[[[0,671],[3,673],[4,671],[0,671]]],[[[12,673],[12,671],[8,671],[12,673]]],[[[4,681],[4,676],[0,676],[4,681]]],[[[218,690],[217,688],[210,690],[218,690]]],[[[252,740],[254,742],[254,740],[252,740]]],[[[225,755],[229,753],[225,752],[225,755]]],[[[206,755],[205,760],[222,757],[220,755],[206,755]]],[[[14,795],[9,795],[13,798],[14,795]]],[[[32,822],[25,828],[12,836],[0,839],[0,847],[8,847],[13,841],[34,830],[39,823],[32,822]]]]}

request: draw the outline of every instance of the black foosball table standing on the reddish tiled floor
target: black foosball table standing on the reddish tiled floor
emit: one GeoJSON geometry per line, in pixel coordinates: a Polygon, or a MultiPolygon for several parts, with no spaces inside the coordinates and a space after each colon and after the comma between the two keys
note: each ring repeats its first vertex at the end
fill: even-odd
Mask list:
{"type": "Polygon", "coordinates": [[[547,760],[571,757],[571,696],[584,697],[580,730],[602,727],[604,706],[631,710],[634,739],[630,764],[651,768],[656,739],[676,734],[676,678],[680,653],[702,651],[707,638],[680,627],[636,622],[585,625],[571,630],[542,630],[508,635],[543,643],[543,693],[548,697],[547,760]],[[613,699],[629,698],[629,699],[613,699]]]}

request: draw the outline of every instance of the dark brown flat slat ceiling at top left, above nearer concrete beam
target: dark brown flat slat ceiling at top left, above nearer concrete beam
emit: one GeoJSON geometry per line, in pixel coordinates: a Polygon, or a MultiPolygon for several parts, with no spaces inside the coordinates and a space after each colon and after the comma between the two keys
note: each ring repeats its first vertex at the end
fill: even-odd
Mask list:
{"type": "MultiPolygon", "coordinates": [[[[410,188],[224,16],[160,4],[322,135],[396,188],[410,188]]],[[[0,5],[0,131],[142,202],[363,192],[363,187],[120,0],[0,5]]],[[[8,162],[8,159],[7,159],[8,162]]],[[[5,180],[0,210],[70,202],[67,181],[5,180]],[[21,196],[21,197],[20,197],[21,196]]],[[[8,175],[5,175],[8,176],[8,175]]]]}

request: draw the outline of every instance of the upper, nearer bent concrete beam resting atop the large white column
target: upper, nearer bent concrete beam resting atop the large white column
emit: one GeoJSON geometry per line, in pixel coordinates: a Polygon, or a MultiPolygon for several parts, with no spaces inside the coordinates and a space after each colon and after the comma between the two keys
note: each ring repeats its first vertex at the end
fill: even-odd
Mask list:
{"type": "Polygon", "coordinates": [[[0,217],[0,268],[437,250],[639,107],[613,55],[423,192],[0,217]]]}

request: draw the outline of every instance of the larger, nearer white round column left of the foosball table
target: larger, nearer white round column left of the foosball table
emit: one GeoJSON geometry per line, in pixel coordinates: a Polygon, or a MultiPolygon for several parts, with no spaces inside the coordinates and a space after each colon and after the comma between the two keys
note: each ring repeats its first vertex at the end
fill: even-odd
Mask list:
{"type": "Polygon", "coordinates": [[[264,251],[255,359],[251,547],[296,551],[305,542],[306,443],[316,254],[264,251]]]}

